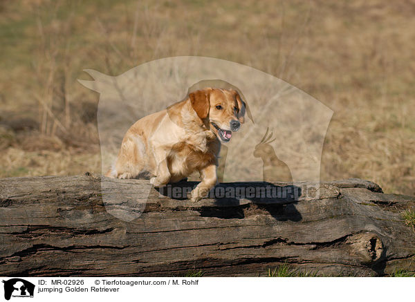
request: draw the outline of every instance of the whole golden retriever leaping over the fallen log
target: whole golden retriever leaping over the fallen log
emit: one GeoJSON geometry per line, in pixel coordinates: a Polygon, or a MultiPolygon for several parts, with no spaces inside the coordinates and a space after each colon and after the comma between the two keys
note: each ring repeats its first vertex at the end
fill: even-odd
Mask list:
{"type": "Polygon", "coordinates": [[[244,122],[246,103],[234,89],[203,88],[166,110],[142,117],[122,140],[106,176],[150,176],[154,187],[178,182],[199,171],[201,182],[190,192],[201,200],[217,183],[221,143],[229,142],[244,122]]]}

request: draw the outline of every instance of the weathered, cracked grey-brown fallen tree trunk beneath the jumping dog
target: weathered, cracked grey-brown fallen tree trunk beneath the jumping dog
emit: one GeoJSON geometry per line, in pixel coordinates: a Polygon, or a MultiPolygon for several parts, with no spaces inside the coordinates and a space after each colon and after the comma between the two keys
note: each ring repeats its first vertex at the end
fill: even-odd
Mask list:
{"type": "Polygon", "coordinates": [[[325,182],[315,198],[300,190],[298,198],[196,203],[150,189],[135,220],[111,215],[145,185],[89,173],[0,180],[0,275],[266,276],[282,263],[324,276],[415,270],[415,233],[402,216],[415,198],[383,194],[373,182],[325,182]],[[102,196],[116,202],[106,208],[102,196]]]}

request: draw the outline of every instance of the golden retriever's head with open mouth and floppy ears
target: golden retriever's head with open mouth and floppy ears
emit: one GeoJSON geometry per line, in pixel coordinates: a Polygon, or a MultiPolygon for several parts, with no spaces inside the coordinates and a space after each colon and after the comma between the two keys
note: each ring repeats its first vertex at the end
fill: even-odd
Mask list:
{"type": "Polygon", "coordinates": [[[232,131],[245,121],[246,104],[234,89],[204,88],[189,98],[196,114],[222,142],[229,142],[232,131]]]}

